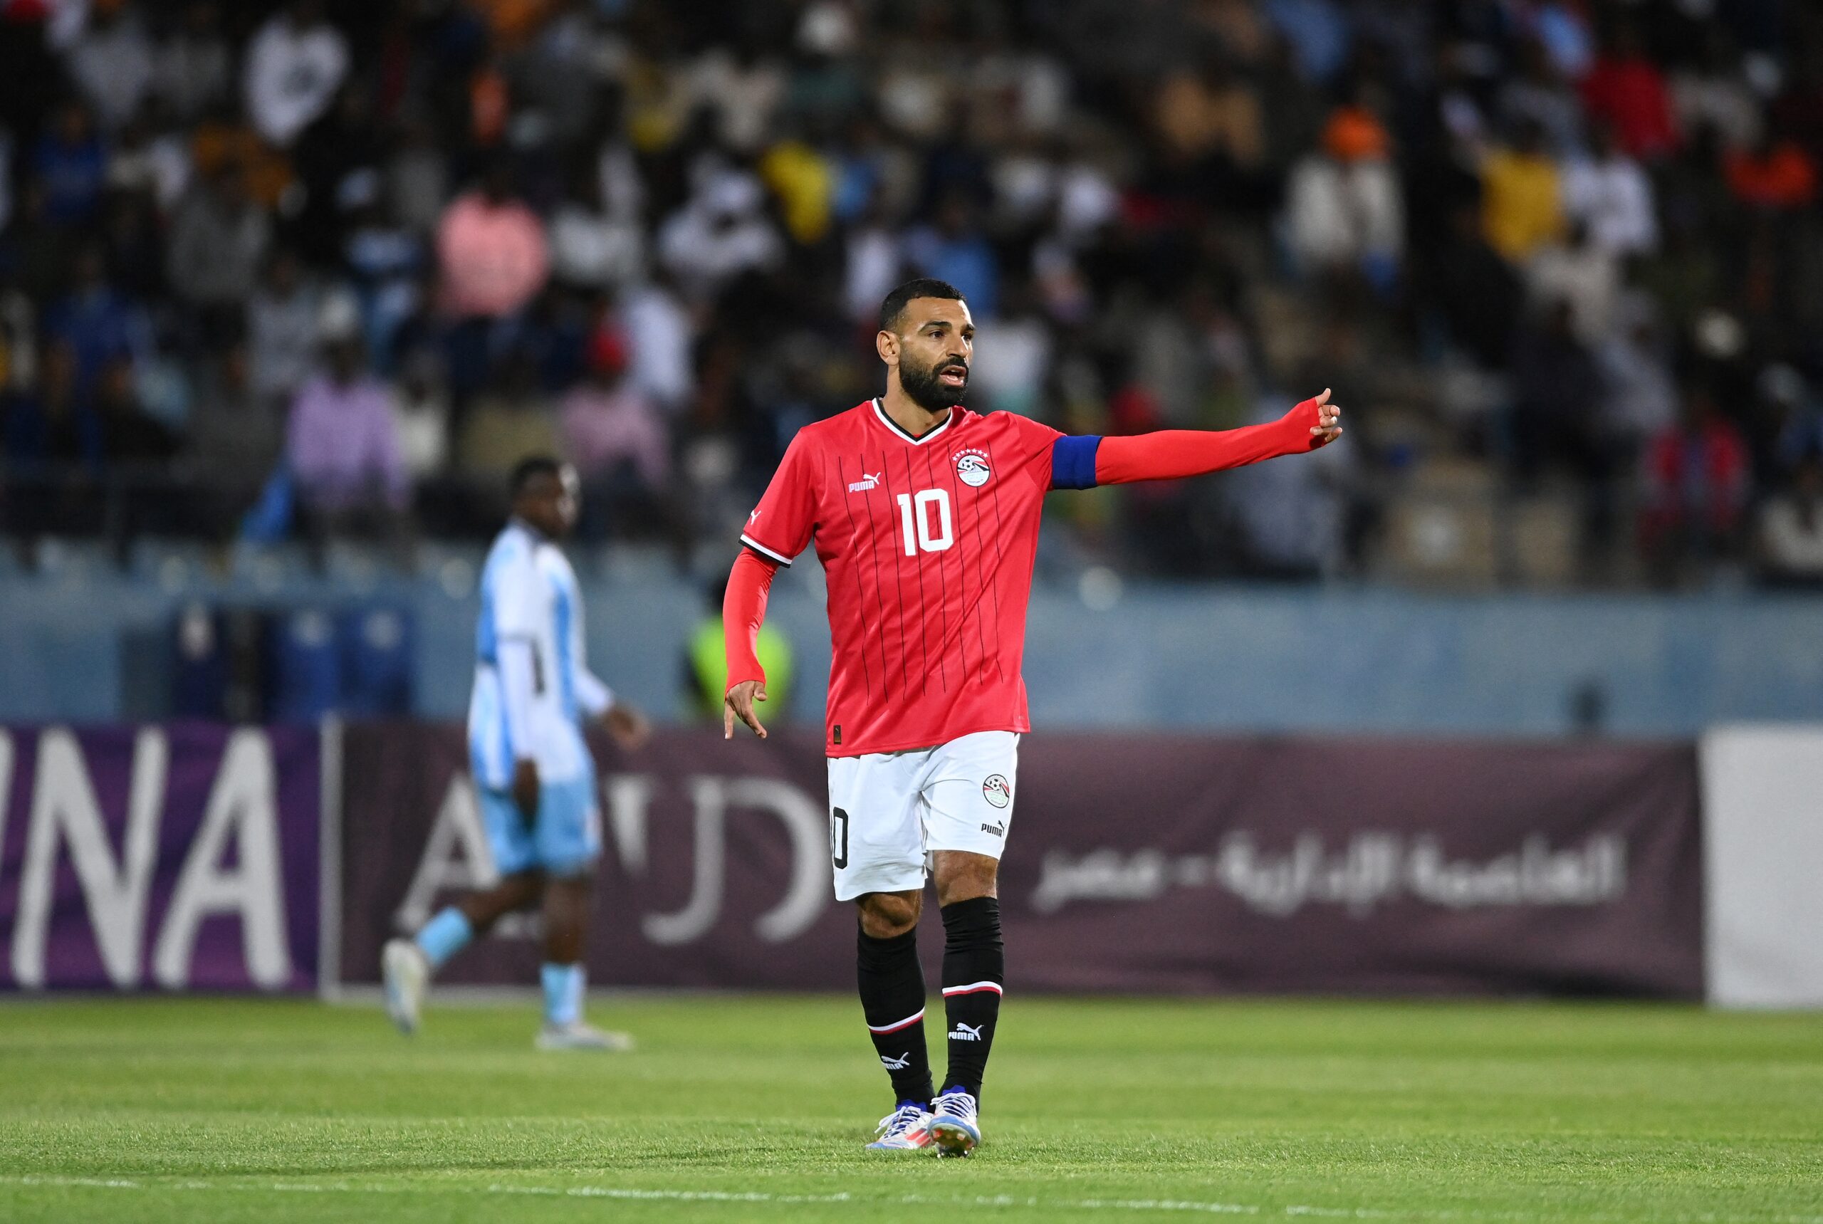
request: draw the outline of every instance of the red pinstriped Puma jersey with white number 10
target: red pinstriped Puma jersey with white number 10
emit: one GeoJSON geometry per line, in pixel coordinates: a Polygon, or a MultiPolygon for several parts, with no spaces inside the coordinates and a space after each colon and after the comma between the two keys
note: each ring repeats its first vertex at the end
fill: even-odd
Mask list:
{"type": "Polygon", "coordinates": [[[1019,664],[1059,438],[966,409],[912,438],[870,399],[791,440],[740,538],[784,565],[817,545],[828,755],[1030,730],[1019,664]]]}

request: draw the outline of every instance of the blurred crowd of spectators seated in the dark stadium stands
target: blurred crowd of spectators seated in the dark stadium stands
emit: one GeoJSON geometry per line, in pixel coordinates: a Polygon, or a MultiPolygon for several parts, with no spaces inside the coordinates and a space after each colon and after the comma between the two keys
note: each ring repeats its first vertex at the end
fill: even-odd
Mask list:
{"type": "Polygon", "coordinates": [[[939,275],[972,405],[1349,441],[1056,498],[1163,575],[1823,575],[1797,0],[0,0],[0,522],[410,544],[556,449],[726,547],[939,275]]]}

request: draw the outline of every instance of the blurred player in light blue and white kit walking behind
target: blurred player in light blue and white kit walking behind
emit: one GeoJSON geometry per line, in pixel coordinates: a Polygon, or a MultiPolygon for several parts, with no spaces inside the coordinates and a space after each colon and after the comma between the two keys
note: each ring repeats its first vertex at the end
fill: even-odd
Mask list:
{"type": "Polygon", "coordinates": [[[645,742],[638,710],[616,700],[583,659],[582,596],[558,547],[576,524],[576,472],[529,458],[512,472],[512,520],[481,573],[469,761],[501,881],[438,912],[381,958],[386,1012],[417,1029],[430,976],[501,916],[543,901],[545,1023],[540,1049],[627,1049],[631,1038],[582,1020],[583,938],[602,854],[594,762],[583,719],[622,748],[645,742]]]}

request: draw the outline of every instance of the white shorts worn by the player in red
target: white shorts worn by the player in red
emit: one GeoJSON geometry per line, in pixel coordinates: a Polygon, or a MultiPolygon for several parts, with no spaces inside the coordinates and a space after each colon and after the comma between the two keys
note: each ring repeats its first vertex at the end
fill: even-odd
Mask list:
{"type": "Polygon", "coordinates": [[[829,757],[835,899],[915,892],[937,850],[1001,857],[1014,815],[1019,735],[975,731],[935,748],[829,757]]]}

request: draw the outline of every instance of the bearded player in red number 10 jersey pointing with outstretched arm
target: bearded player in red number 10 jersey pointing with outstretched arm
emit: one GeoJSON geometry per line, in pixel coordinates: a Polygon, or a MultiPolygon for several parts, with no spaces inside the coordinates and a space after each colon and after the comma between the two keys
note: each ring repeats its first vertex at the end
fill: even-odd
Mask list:
{"type": "Polygon", "coordinates": [[[870,1147],[968,1155],[1004,954],[995,876],[1030,730],[1026,602],[1052,489],[1178,480],[1342,434],[1329,392],[1282,420],[1223,432],[1066,436],[1014,412],[963,407],[975,325],[942,281],[881,305],[886,394],[806,425],[742,531],[722,606],[724,733],[766,728],[753,642],[773,575],[817,545],[829,589],[829,848],[835,896],[860,910],[860,1007],[897,1107],[870,1147]],[[942,910],[950,1065],[932,1093],[917,921],[926,872],[942,910]]]}

